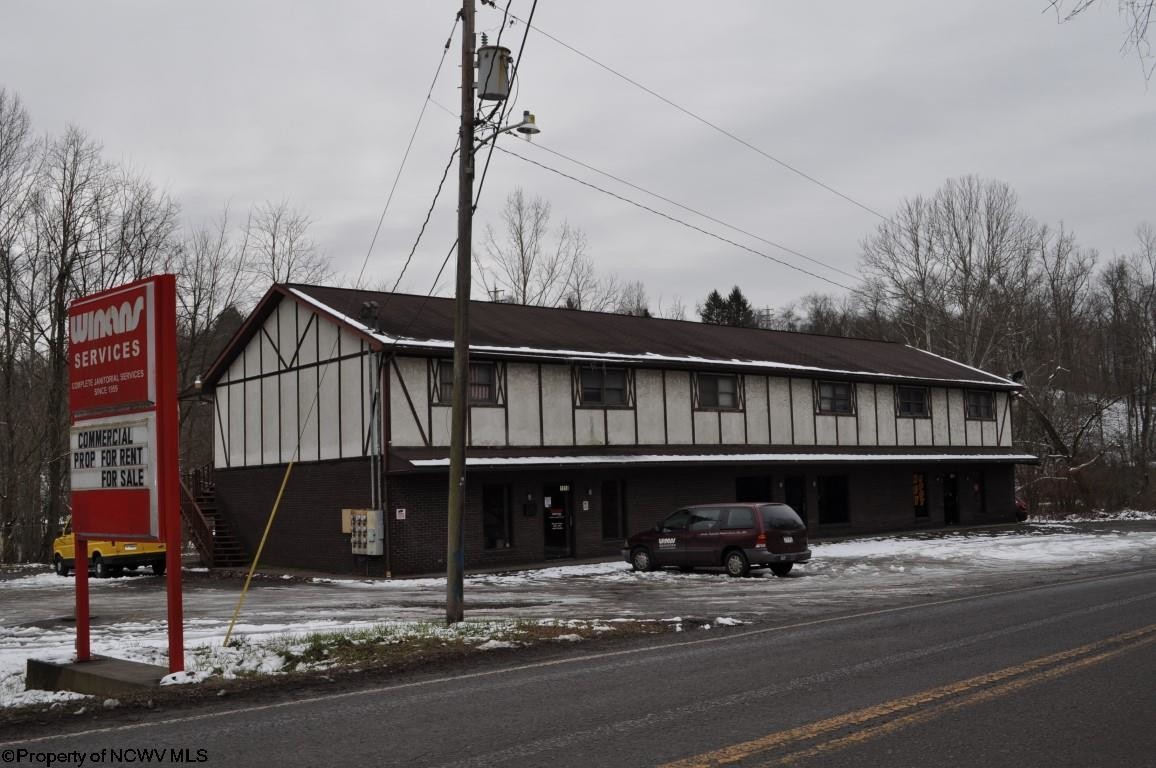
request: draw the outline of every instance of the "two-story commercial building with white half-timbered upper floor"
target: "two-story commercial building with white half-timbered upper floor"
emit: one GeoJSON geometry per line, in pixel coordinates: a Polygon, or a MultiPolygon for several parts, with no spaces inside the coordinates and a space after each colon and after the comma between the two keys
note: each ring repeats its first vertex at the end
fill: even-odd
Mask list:
{"type": "MultiPolygon", "coordinates": [[[[813,536],[1015,518],[1015,382],[894,342],[470,305],[467,567],[614,554],[677,507],[813,536]]],[[[264,562],[445,568],[453,300],[274,286],[203,376],[220,514],[264,562]],[[342,509],[384,510],[355,555],[342,509]]]]}

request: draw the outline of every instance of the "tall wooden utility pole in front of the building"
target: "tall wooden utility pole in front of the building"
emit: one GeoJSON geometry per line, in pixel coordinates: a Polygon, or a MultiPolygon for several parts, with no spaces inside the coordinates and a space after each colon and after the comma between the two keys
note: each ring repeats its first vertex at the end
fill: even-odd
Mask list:
{"type": "Polygon", "coordinates": [[[461,3],[461,128],[458,143],[458,279],[453,316],[453,398],[445,546],[445,622],[465,618],[466,553],[461,518],[466,493],[466,408],[469,385],[469,260],[474,237],[474,0],[461,3]]]}

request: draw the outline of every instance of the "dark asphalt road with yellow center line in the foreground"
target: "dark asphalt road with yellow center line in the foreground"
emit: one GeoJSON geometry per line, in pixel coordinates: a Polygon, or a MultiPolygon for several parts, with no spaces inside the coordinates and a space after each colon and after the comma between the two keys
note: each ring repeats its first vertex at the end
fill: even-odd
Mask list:
{"type": "Polygon", "coordinates": [[[1154,766],[1154,684],[1156,569],[1138,564],[160,712],[6,741],[0,765],[158,765],[102,751],[176,748],[164,765],[1154,766]]]}

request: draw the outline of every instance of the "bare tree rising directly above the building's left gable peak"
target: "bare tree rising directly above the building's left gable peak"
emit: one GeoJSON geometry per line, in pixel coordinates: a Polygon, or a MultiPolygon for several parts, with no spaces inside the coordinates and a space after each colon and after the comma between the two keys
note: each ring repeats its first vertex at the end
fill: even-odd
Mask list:
{"type": "Polygon", "coordinates": [[[288,200],[265,202],[249,213],[242,258],[259,282],[325,282],[331,269],[309,237],[310,217],[288,200]]]}

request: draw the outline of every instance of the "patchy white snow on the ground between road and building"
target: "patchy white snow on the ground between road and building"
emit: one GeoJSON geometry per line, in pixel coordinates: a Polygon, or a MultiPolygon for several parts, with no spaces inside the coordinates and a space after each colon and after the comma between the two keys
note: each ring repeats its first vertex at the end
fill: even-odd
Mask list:
{"type": "MultiPolygon", "coordinates": [[[[1125,518],[1136,519],[1136,518],[1125,518]]],[[[1156,519],[1149,514],[1139,519],[1156,519]]],[[[1097,518],[1097,523],[1102,523],[1097,518]]],[[[1153,526],[1142,526],[1151,529],[1153,526]]],[[[1062,568],[1074,559],[1082,563],[1132,560],[1156,551],[1156,530],[1126,530],[1112,525],[1099,525],[1091,531],[1074,522],[1048,520],[1011,530],[971,531],[942,533],[931,532],[918,536],[877,537],[831,542],[813,542],[814,560],[802,567],[808,578],[731,579],[718,573],[681,574],[654,571],[636,574],[621,561],[590,564],[561,566],[538,570],[510,571],[503,574],[479,574],[466,578],[467,592],[499,596],[532,595],[547,600],[551,618],[539,619],[566,626],[576,613],[575,596],[617,591],[617,595],[636,598],[639,590],[661,590],[665,586],[692,585],[704,590],[716,611],[733,610],[739,606],[734,596],[750,593],[756,589],[775,589],[779,593],[803,595],[817,600],[832,599],[852,592],[881,592],[892,589],[926,589],[928,579],[939,578],[942,584],[958,585],[961,569],[979,568],[1062,568]],[[543,597],[544,596],[544,597],[543,597]],[[728,603],[728,600],[731,600],[728,603]]],[[[97,592],[123,590],[131,579],[91,579],[97,592]]],[[[391,590],[406,590],[406,598],[422,596],[431,603],[439,599],[445,590],[444,578],[368,581],[353,578],[312,579],[307,589],[333,589],[336,591],[380,590],[378,595],[390,597],[391,590]]],[[[49,590],[60,592],[61,582],[54,574],[30,574],[0,581],[0,600],[6,591],[49,590]]],[[[291,595],[292,585],[280,586],[291,595]]],[[[14,592],[9,592],[15,596],[14,592]]],[[[34,592],[35,593],[35,592],[34,592]]],[[[112,592],[110,592],[111,595],[112,592]]],[[[116,592],[123,593],[123,592],[116,592]]],[[[677,597],[677,596],[676,596],[677,597]]],[[[38,599],[38,598],[37,598],[38,599]]],[[[238,623],[234,630],[240,642],[223,647],[228,621],[222,619],[190,618],[185,623],[187,673],[176,675],[166,682],[197,682],[209,675],[235,677],[244,672],[273,673],[282,671],[286,658],[299,650],[305,635],[311,633],[358,633],[386,632],[391,642],[406,642],[407,637],[429,637],[431,633],[445,633],[446,637],[467,640],[481,649],[505,648],[503,627],[510,619],[467,621],[453,628],[437,626],[429,621],[381,621],[350,620],[344,615],[343,603],[331,600],[332,611],[310,610],[291,616],[281,614],[281,620],[262,621],[261,615],[238,623]],[[464,634],[465,633],[465,634],[464,634]],[[395,640],[394,640],[395,638],[395,640]]],[[[10,605],[10,604],[9,604],[10,605]]],[[[388,600],[376,612],[388,615],[388,600]]],[[[637,618],[636,612],[623,608],[614,600],[607,605],[617,608],[600,608],[600,619],[593,628],[609,630],[610,622],[637,618]],[[617,615],[606,615],[607,612],[617,615]]],[[[806,608],[806,606],[803,606],[806,608]]],[[[228,615],[228,614],[227,614],[228,615]]],[[[252,615],[252,614],[251,614],[252,615]]],[[[362,614],[366,615],[366,614],[362,614]]],[[[499,615],[499,614],[495,614],[499,615]]],[[[517,615],[516,613],[506,613],[517,615]]],[[[525,615],[525,614],[521,614],[525,615]]],[[[667,614],[669,615],[669,614],[667,614]]],[[[266,616],[267,618],[267,616],[266,616]]],[[[711,621],[696,619],[683,625],[681,618],[666,619],[677,629],[711,627],[711,621]]],[[[587,622],[588,623],[588,622],[587,622]]],[[[739,619],[719,616],[714,626],[734,626],[739,619]]],[[[571,641],[577,635],[563,634],[560,641],[571,641]]],[[[32,622],[15,625],[0,622],[0,707],[47,703],[54,707],[91,706],[76,704],[76,694],[50,694],[24,692],[24,667],[31,657],[69,662],[73,659],[75,627],[60,622],[32,622]]],[[[92,627],[92,652],[129,660],[168,666],[168,637],[165,622],[161,620],[136,620],[98,623],[92,627]]]]}

